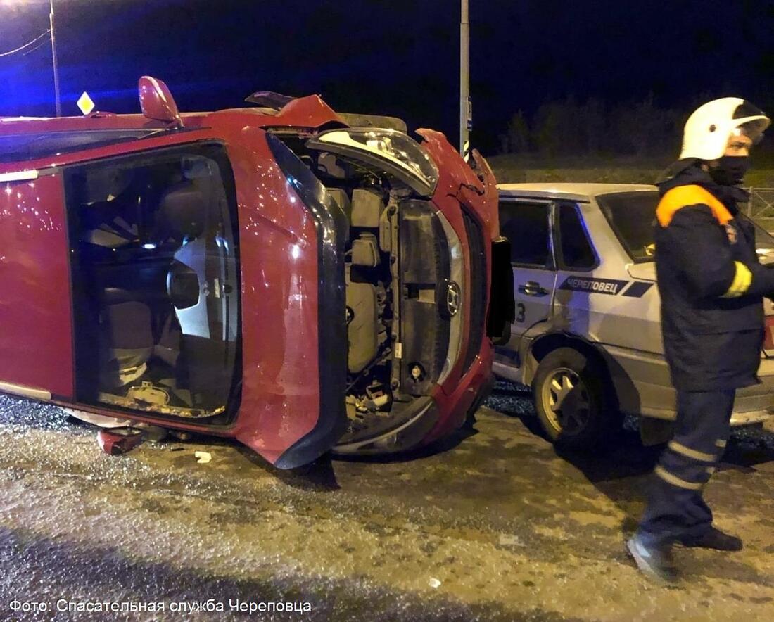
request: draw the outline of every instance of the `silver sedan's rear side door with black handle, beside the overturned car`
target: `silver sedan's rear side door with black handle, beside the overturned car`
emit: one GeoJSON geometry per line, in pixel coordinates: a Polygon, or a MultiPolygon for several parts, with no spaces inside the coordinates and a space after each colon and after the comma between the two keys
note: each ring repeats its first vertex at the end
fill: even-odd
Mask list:
{"type": "Polygon", "coordinates": [[[500,195],[500,232],[511,241],[515,322],[506,349],[519,351],[522,335],[549,319],[556,288],[553,203],[500,195]]]}

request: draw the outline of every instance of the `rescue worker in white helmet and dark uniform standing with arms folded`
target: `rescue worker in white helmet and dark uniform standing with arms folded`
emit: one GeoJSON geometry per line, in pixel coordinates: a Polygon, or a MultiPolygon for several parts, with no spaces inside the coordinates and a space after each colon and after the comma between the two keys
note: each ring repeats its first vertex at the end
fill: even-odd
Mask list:
{"type": "Polygon", "coordinates": [[[738,551],[702,498],[728,434],[735,391],[759,382],[763,296],[774,271],[759,264],[755,230],[739,214],[748,153],[769,126],[737,97],[700,106],[680,159],[658,184],[656,275],[664,350],[677,391],[674,436],[659,458],[639,528],[626,542],[639,569],[673,582],[674,544],[738,551]]]}

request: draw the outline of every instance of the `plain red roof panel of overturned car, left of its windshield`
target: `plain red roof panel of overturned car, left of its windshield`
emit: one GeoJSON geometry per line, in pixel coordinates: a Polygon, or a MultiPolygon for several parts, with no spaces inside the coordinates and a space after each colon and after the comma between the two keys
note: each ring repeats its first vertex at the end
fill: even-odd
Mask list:
{"type": "Polygon", "coordinates": [[[0,176],[0,390],[67,400],[73,350],[62,180],[26,176],[0,176]]]}

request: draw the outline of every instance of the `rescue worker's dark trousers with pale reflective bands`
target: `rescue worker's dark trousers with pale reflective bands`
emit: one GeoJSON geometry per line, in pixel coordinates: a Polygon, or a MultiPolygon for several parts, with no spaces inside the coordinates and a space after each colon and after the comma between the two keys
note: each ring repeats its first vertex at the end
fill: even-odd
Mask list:
{"type": "Polygon", "coordinates": [[[735,391],[677,391],[673,439],[653,473],[639,536],[666,546],[701,535],[712,525],[704,485],[723,455],[735,391]]]}

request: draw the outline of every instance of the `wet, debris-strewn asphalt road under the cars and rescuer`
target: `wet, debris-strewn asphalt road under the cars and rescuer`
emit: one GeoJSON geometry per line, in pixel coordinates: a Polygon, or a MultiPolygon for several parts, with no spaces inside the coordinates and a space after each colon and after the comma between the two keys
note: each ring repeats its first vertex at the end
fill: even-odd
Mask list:
{"type": "Polygon", "coordinates": [[[707,489],[745,550],[679,549],[663,587],[623,552],[658,451],[557,455],[529,393],[488,405],[418,455],[287,473],[217,439],[111,457],[0,397],[0,620],[774,620],[772,436],[735,434],[707,489]]]}

